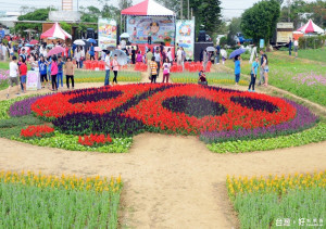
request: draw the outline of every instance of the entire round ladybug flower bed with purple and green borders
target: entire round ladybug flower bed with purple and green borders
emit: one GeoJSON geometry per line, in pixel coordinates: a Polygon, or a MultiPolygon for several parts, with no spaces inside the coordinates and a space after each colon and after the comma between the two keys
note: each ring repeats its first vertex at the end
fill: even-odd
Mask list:
{"type": "Polygon", "coordinates": [[[325,140],[324,122],[314,127],[318,117],[293,101],[197,84],[88,88],[3,104],[10,115],[0,120],[1,136],[66,150],[127,152],[143,131],[199,136],[218,153],[297,145],[296,135],[305,143],[325,140]],[[21,135],[40,124],[54,131],[21,135]]]}

